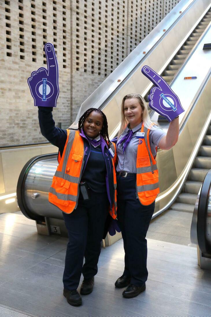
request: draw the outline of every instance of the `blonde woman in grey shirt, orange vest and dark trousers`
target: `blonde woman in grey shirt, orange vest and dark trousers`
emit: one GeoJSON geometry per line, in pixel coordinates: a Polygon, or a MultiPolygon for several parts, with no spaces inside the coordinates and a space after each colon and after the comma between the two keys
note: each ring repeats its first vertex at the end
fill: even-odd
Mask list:
{"type": "Polygon", "coordinates": [[[159,193],[156,165],[157,146],[168,150],[179,136],[179,119],[169,124],[167,134],[150,121],[147,105],[140,94],[122,100],[121,128],[117,155],[117,218],[125,249],[125,269],[115,282],[127,288],[126,298],[143,292],[147,280],[147,241],[145,239],[159,193]]]}

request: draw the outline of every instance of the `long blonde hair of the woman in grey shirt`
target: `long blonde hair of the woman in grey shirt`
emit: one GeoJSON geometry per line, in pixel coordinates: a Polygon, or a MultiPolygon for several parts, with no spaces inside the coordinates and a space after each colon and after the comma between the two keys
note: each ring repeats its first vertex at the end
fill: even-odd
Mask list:
{"type": "Polygon", "coordinates": [[[142,113],[142,120],[144,122],[144,126],[147,128],[147,129],[153,129],[153,122],[150,120],[150,116],[149,116],[149,113],[148,113],[148,109],[147,109],[147,105],[146,105],[146,101],[144,100],[144,98],[140,95],[140,94],[128,94],[126,95],[123,100],[122,100],[122,104],[121,104],[121,126],[120,126],[120,130],[119,130],[119,133],[118,133],[118,137],[121,135],[121,133],[125,130],[127,124],[128,124],[128,121],[125,117],[125,108],[124,108],[124,105],[125,105],[125,100],[126,99],[132,99],[132,98],[137,98],[142,110],[143,110],[143,113],[142,113]]]}

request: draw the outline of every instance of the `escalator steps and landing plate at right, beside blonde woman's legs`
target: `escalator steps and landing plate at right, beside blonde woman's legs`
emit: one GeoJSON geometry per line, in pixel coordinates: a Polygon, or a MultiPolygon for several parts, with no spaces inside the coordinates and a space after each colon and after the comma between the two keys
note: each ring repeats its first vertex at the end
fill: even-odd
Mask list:
{"type": "MultiPolygon", "coordinates": [[[[195,203],[209,170],[211,170],[211,125],[180,193],[173,204],[150,223],[147,238],[191,245],[190,228],[195,203]]],[[[201,231],[203,232],[202,228],[201,231]]]]}

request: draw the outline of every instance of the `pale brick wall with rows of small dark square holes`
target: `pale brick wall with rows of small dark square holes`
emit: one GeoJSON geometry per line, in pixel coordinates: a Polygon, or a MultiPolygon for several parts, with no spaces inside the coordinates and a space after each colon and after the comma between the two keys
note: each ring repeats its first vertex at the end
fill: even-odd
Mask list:
{"type": "Polygon", "coordinates": [[[46,67],[46,42],[59,64],[54,120],[67,128],[81,103],[178,2],[0,0],[0,146],[46,141],[27,84],[32,71],[46,67]]]}

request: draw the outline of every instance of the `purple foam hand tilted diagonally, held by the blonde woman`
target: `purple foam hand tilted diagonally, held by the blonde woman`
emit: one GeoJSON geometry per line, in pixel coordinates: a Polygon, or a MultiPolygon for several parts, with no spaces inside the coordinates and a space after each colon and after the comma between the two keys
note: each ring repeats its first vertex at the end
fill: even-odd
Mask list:
{"type": "Polygon", "coordinates": [[[149,66],[142,67],[141,71],[156,86],[151,88],[148,96],[150,108],[165,116],[169,122],[184,112],[178,96],[160,75],[149,66]]]}

